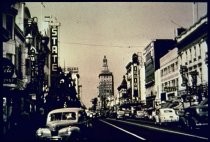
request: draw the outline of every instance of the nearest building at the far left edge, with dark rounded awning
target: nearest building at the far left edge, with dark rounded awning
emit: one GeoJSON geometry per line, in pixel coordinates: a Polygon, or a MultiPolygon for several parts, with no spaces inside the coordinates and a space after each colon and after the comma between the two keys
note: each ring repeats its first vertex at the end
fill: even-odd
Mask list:
{"type": "MultiPolygon", "coordinates": [[[[15,46],[15,16],[17,9],[15,4],[0,6],[0,90],[1,90],[1,110],[3,110],[3,117],[1,120],[1,136],[6,134],[11,129],[11,116],[14,103],[12,98],[17,87],[17,72],[16,72],[16,46],[15,46]],[[2,101],[3,100],[3,101],[2,101]],[[3,105],[2,105],[3,104],[3,105]]],[[[18,112],[17,112],[18,113],[18,112]]]]}

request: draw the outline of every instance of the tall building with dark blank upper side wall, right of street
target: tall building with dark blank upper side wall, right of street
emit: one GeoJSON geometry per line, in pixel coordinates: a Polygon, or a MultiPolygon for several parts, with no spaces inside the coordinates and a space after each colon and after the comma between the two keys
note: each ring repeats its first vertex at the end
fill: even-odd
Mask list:
{"type": "Polygon", "coordinates": [[[159,103],[160,95],[160,58],[172,49],[175,41],[172,39],[156,39],[144,49],[145,58],[145,88],[146,105],[154,108],[159,103]],[[156,98],[157,97],[157,98],[156,98]],[[156,100],[156,101],[155,101],[156,100]]]}

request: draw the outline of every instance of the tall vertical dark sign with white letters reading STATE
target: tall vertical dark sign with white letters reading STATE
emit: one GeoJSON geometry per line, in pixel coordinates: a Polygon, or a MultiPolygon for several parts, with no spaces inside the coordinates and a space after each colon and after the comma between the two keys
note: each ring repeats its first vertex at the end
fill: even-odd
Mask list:
{"type": "Polygon", "coordinates": [[[51,26],[50,35],[51,73],[54,75],[58,70],[58,26],[51,26]]]}

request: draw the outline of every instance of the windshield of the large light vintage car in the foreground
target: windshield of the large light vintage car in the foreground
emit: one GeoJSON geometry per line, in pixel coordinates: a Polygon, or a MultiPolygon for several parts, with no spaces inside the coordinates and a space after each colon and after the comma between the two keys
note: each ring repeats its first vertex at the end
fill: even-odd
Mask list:
{"type": "Polygon", "coordinates": [[[62,112],[62,113],[53,113],[50,115],[50,121],[57,120],[76,120],[75,112],[62,112]]]}

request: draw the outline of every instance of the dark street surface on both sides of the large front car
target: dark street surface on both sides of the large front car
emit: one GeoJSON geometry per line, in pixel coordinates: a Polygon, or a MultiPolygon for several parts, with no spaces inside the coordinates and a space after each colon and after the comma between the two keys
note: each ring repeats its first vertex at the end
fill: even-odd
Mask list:
{"type": "MultiPolygon", "coordinates": [[[[29,124],[11,132],[8,142],[35,141],[34,124],[29,124]]],[[[208,141],[207,131],[179,130],[177,127],[158,126],[148,121],[115,120],[111,118],[96,119],[93,127],[86,134],[84,141],[118,142],[118,141],[208,141]]]]}

